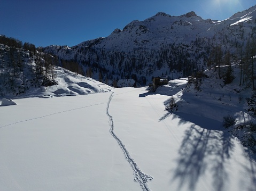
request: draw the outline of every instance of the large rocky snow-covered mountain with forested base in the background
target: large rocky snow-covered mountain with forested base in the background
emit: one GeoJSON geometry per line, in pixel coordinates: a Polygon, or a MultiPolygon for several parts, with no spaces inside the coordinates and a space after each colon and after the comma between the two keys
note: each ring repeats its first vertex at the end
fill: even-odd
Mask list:
{"type": "Polygon", "coordinates": [[[105,38],[73,47],[52,45],[44,51],[79,63],[95,79],[131,78],[148,84],[153,76],[187,77],[205,70],[212,47],[235,53],[255,35],[255,24],[256,5],[223,21],[202,19],[193,11],[181,16],[160,12],[105,38]]]}

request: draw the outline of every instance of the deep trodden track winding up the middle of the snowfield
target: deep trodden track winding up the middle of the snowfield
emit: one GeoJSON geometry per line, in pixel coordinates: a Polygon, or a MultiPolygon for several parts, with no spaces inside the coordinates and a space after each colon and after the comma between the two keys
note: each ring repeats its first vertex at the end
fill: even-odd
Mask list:
{"type": "Polygon", "coordinates": [[[117,140],[118,144],[120,145],[121,149],[123,150],[123,153],[125,154],[126,160],[130,163],[131,167],[134,170],[134,180],[138,181],[139,184],[141,185],[142,189],[144,191],[150,191],[150,188],[148,187],[148,180],[152,180],[153,177],[146,175],[139,169],[135,161],[131,158],[129,152],[127,151],[125,145],[122,143],[122,141],[118,138],[117,135],[114,133],[114,122],[113,122],[113,117],[109,114],[108,109],[110,107],[110,102],[113,97],[113,93],[111,93],[110,98],[108,99],[107,107],[106,107],[106,114],[110,118],[110,133],[114,137],[115,140],[117,140]]]}

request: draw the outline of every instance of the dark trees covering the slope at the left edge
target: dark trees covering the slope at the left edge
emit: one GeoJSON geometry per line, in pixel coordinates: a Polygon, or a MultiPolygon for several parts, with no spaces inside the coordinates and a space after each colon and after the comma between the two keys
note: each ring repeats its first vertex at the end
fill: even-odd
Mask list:
{"type": "Polygon", "coordinates": [[[58,57],[35,45],[0,36],[0,96],[25,93],[30,87],[56,84],[58,57]]]}

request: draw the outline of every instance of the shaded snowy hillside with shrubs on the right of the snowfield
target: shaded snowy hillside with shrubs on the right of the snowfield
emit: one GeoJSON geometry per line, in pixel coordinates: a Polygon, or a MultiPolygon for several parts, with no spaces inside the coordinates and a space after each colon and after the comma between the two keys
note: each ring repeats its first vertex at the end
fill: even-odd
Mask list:
{"type": "MultiPolygon", "coordinates": [[[[174,113],[182,120],[200,127],[227,131],[238,138],[249,154],[255,155],[255,93],[238,85],[240,63],[232,63],[231,67],[237,77],[230,84],[225,84],[223,79],[216,79],[218,72],[213,68],[204,71],[205,76],[200,78],[170,80],[168,85],[159,87],[156,93],[172,96],[164,102],[168,111],[165,118],[174,113]],[[226,129],[224,117],[233,120],[226,129]]],[[[222,68],[227,70],[228,66],[222,68]]]]}

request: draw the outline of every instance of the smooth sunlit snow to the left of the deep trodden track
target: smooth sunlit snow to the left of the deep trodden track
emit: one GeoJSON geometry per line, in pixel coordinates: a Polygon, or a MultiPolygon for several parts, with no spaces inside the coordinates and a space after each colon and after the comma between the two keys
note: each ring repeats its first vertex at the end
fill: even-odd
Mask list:
{"type": "Polygon", "coordinates": [[[140,190],[109,134],[109,95],[25,98],[15,110],[3,107],[10,117],[1,120],[0,190],[140,190]]]}

